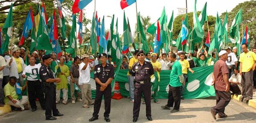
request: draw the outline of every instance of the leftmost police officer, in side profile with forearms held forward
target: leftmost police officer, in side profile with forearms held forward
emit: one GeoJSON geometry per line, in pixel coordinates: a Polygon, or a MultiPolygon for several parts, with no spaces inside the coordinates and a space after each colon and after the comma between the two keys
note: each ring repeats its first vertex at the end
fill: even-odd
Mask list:
{"type": "Polygon", "coordinates": [[[56,120],[57,118],[53,116],[63,116],[58,109],[56,108],[56,87],[53,84],[54,82],[61,82],[60,78],[54,78],[51,68],[49,64],[52,63],[51,55],[44,55],[42,57],[43,64],[40,67],[39,74],[42,83],[44,84],[43,90],[45,93],[45,116],[46,120],[56,120]]]}

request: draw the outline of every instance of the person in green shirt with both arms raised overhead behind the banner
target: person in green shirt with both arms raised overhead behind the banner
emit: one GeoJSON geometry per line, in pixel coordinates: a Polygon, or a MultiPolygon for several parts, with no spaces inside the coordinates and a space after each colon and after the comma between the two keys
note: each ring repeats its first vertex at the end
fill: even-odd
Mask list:
{"type": "Polygon", "coordinates": [[[198,67],[208,66],[207,63],[208,60],[208,52],[205,50],[205,48],[202,46],[200,50],[197,53],[197,61],[198,61],[198,67]],[[204,53],[201,53],[201,51],[204,50],[204,53]]]}

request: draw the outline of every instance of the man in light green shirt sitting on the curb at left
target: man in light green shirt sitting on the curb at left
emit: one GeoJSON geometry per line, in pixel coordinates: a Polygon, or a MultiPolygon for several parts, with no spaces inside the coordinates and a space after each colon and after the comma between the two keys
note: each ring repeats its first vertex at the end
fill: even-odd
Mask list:
{"type": "MultiPolygon", "coordinates": [[[[28,106],[28,96],[22,96],[19,99],[18,95],[16,94],[15,83],[17,82],[17,78],[15,76],[10,77],[10,81],[4,86],[3,91],[5,94],[4,103],[9,104],[11,106],[15,106],[17,108],[21,108],[21,110],[29,109],[28,106]],[[25,105],[25,107],[24,107],[25,105]]],[[[26,84],[21,88],[21,91],[26,89],[26,84]]]]}

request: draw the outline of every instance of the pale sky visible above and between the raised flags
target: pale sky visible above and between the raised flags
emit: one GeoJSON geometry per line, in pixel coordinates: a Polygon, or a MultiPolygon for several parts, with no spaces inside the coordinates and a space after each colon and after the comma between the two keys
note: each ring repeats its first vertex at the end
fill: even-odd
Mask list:
{"type": "MultiPolygon", "coordinates": [[[[122,10],[120,1],[121,0],[96,0],[98,17],[100,17],[102,21],[103,16],[105,16],[105,29],[109,29],[112,18],[107,16],[113,16],[113,14],[115,14],[114,27],[116,24],[116,17],[118,17],[118,32],[119,34],[123,34],[123,13],[125,11],[126,19],[127,17],[129,18],[131,31],[134,32],[135,24],[137,23],[136,3],[133,3],[131,6],[122,10]]],[[[204,4],[207,2],[207,15],[216,17],[217,12],[219,15],[226,10],[227,12],[230,12],[239,3],[243,3],[244,1],[249,0],[197,0],[196,10],[201,11],[204,4]]],[[[86,17],[90,20],[92,20],[93,17],[94,3],[95,1],[93,0],[83,10],[83,12],[86,13],[86,17]]],[[[187,0],[188,13],[194,11],[194,6],[195,0],[187,0]]],[[[142,16],[150,16],[151,23],[156,22],[161,16],[163,7],[165,7],[167,22],[169,22],[169,19],[172,16],[172,10],[174,18],[177,17],[177,8],[186,8],[186,0],[137,0],[137,11],[140,12],[142,16]]],[[[88,24],[87,28],[90,29],[91,24],[88,24]]]]}

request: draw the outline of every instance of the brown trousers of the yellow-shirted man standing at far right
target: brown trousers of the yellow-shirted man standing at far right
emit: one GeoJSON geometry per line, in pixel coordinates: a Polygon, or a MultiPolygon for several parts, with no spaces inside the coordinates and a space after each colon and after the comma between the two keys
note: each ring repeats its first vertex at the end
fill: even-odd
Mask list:
{"type": "Polygon", "coordinates": [[[247,99],[253,98],[253,70],[242,72],[242,96],[247,99]]]}

